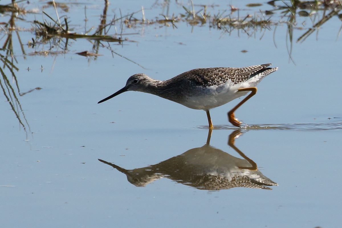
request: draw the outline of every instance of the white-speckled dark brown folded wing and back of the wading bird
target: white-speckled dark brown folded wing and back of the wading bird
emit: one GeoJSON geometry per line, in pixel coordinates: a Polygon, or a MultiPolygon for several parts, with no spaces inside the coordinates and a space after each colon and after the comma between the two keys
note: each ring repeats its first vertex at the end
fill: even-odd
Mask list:
{"type": "Polygon", "coordinates": [[[244,82],[265,70],[271,64],[263,64],[241,68],[231,67],[213,67],[213,68],[198,68],[184,72],[167,81],[188,81],[194,86],[212,86],[223,84],[230,80],[233,84],[244,82]]]}

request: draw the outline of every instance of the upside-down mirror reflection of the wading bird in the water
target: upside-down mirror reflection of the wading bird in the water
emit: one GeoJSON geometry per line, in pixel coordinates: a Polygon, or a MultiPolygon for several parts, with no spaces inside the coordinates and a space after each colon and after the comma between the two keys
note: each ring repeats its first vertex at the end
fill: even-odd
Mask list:
{"type": "Polygon", "coordinates": [[[98,160],[126,174],[127,180],[137,187],[146,186],[159,178],[166,177],[202,190],[234,187],[272,189],[267,186],[278,184],[264,176],[258,170],[257,164],[235,146],[235,139],[241,134],[240,130],[236,130],[229,135],[228,145],[244,159],[236,158],[210,146],[211,130],[209,130],[207,144],[204,146],[190,149],[155,165],[126,170],[107,161],[98,160]]]}

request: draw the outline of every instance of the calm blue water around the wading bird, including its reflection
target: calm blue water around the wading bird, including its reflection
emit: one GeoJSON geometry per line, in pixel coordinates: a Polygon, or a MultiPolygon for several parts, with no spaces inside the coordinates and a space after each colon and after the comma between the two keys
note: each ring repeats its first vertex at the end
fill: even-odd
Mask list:
{"type": "MultiPolygon", "coordinates": [[[[251,2],[229,2],[240,9],[232,13],[220,1],[213,7],[194,1],[194,8],[208,5],[211,20],[219,14],[260,19],[259,10],[279,9],[266,3],[247,7],[251,2]]],[[[96,30],[103,1],[66,4],[67,12],[57,12],[69,17],[73,32],[96,30]]],[[[42,16],[46,2],[18,5],[35,14],[15,19],[18,32],[5,25],[1,30],[3,227],[342,225],[342,185],[336,176],[342,159],[340,11],[303,42],[297,39],[331,9],[307,10],[307,17],[296,12],[296,23],[284,23],[289,14],[277,10],[275,23],[265,29],[230,33],[209,23],[192,26],[181,17],[176,27],[128,28],[117,22],[108,35],[118,37],[115,29],[119,34],[122,26],[127,42],[69,39],[66,45],[65,38],[43,42],[30,30],[35,18],[51,22],[42,16]],[[101,55],[75,54],[82,51],[101,55]],[[193,68],[264,63],[279,70],[236,111],[250,127],[236,132],[228,123],[235,100],[211,111],[216,128],[210,142],[204,111],[139,92],[97,104],[138,72],[165,80],[193,68]]],[[[111,2],[107,18],[143,6],[145,18],[153,21],[164,19],[159,14],[185,14],[183,5],[192,9],[187,1],[169,8],[161,1],[111,2]]],[[[56,18],[51,6],[44,12],[56,18]]],[[[9,19],[4,13],[1,21],[9,19]]]]}

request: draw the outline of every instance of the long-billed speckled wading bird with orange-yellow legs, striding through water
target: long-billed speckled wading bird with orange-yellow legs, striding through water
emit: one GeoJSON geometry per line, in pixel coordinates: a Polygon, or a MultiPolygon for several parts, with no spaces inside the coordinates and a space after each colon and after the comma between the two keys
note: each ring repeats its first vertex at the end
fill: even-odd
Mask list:
{"type": "Polygon", "coordinates": [[[192,109],[207,112],[209,128],[213,128],[209,110],[224,105],[240,96],[251,93],[228,112],[228,119],[234,126],[242,122],[235,118],[234,112],[249,98],[257,93],[255,87],[264,77],[276,71],[278,67],[262,64],[249,67],[198,68],[186,71],[169,80],[155,80],[143,73],[129,77],[121,90],[100,100],[102,103],[126,91],[140,91],[172,100],[192,109]]]}

